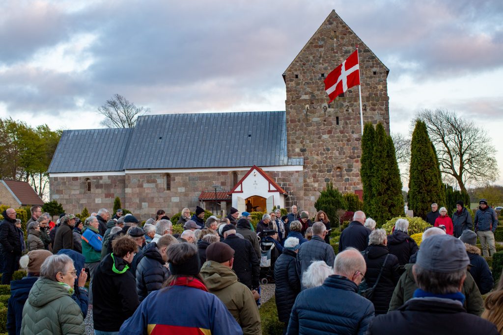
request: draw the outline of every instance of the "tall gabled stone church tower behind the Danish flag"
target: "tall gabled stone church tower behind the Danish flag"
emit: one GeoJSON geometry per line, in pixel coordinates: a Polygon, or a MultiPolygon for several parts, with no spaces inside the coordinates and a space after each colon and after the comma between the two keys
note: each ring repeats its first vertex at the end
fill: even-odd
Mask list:
{"type": "Polygon", "coordinates": [[[305,208],[313,207],[329,181],[342,192],[362,189],[358,86],[327,104],[323,83],[356,45],[360,50],[363,121],[381,122],[389,133],[387,69],[335,12],[285,72],[288,156],[304,157],[305,208]]]}

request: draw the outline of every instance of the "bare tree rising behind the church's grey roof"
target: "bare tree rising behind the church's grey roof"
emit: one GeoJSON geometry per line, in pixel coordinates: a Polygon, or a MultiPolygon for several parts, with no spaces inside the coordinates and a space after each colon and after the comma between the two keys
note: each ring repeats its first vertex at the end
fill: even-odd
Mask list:
{"type": "Polygon", "coordinates": [[[108,128],[133,128],[139,116],[150,108],[137,107],[124,96],[115,94],[112,99],[98,107],[97,113],[105,117],[101,124],[108,128]]]}

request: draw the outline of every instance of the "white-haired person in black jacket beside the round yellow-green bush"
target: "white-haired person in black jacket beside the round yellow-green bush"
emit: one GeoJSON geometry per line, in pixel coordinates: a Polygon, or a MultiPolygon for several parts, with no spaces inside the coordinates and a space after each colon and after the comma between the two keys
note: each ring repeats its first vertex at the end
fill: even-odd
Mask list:
{"type": "Polygon", "coordinates": [[[395,222],[393,234],[388,236],[389,253],[398,258],[400,265],[408,263],[410,256],[415,254],[419,248],[413,239],[408,236],[408,221],[399,218],[395,222]]]}

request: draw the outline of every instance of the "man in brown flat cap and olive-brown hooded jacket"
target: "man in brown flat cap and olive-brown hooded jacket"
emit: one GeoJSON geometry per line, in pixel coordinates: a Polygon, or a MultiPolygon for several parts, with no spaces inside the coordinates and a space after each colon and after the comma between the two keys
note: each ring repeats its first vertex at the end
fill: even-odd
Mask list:
{"type": "Polygon", "coordinates": [[[201,276],[210,293],[215,294],[241,326],[243,334],[261,334],[259,309],[254,296],[237,280],[232,271],[234,250],[227,244],[216,242],[206,248],[206,262],[201,276]]]}

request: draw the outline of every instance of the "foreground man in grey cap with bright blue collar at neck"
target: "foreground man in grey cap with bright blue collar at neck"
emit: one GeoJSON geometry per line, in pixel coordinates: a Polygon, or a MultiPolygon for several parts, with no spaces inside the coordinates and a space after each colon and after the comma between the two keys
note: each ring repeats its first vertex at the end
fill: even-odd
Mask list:
{"type": "Polygon", "coordinates": [[[463,307],[461,293],[470,259],[463,242],[450,235],[434,235],[421,244],[412,267],[417,289],[414,297],[395,311],[374,319],[368,333],[498,334],[496,326],[463,307]]]}

